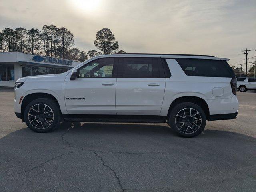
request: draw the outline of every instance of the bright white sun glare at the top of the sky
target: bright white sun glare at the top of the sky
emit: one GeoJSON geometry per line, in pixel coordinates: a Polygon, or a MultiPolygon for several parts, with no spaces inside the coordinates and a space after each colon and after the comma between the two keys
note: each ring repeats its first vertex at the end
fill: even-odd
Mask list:
{"type": "Polygon", "coordinates": [[[92,12],[96,10],[101,0],[68,0],[70,5],[74,7],[76,10],[84,11],[84,12],[92,12]]]}

